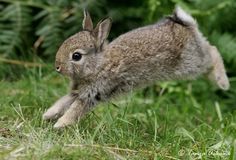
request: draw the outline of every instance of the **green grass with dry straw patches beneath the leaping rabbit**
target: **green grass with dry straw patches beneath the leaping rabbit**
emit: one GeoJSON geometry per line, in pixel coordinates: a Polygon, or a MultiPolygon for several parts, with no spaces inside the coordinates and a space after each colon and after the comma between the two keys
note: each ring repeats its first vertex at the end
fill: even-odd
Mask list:
{"type": "Polygon", "coordinates": [[[231,91],[203,79],[164,82],[101,104],[58,131],[41,116],[67,86],[48,68],[1,81],[0,159],[236,159],[231,91]]]}

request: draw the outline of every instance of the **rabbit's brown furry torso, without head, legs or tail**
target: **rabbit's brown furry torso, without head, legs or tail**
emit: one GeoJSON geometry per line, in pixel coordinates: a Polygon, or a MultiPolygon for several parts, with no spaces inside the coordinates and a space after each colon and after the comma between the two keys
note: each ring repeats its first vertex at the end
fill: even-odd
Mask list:
{"type": "Polygon", "coordinates": [[[105,53],[106,68],[134,83],[181,79],[185,75],[185,79],[191,78],[202,69],[202,60],[209,59],[198,46],[198,38],[194,28],[167,18],[110,43],[105,53]]]}

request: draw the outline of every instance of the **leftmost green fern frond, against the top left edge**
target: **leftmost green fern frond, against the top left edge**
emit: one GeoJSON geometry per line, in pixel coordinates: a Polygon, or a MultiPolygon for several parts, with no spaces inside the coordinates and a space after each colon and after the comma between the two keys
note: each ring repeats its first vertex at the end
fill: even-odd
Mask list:
{"type": "Polygon", "coordinates": [[[25,55],[24,49],[31,46],[31,12],[31,8],[18,2],[5,5],[0,12],[0,52],[5,56],[25,55]]]}

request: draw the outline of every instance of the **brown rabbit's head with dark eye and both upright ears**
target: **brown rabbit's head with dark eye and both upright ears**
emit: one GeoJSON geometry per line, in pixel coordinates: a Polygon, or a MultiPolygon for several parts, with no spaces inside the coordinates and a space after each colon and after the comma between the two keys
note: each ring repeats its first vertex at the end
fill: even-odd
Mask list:
{"type": "Polygon", "coordinates": [[[72,78],[89,77],[102,60],[104,43],[111,28],[111,19],[93,22],[84,11],[83,30],[69,37],[56,54],[56,71],[72,78]]]}

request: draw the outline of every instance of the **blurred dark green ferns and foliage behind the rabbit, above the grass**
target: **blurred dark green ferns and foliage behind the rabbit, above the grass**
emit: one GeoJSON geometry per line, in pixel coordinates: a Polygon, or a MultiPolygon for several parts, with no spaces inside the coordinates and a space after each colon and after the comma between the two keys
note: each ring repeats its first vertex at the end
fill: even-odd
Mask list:
{"type": "Polygon", "coordinates": [[[219,48],[230,77],[230,91],[219,91],[206,81],[194,82],[202,87],[199,93],[210,89],[235,109],[235,0],[0,0],[0,79],[17,81],[32,68],[43,75],[54,72],[56,51],[81,29],[84,8],[94,23],[107,16],[113,19],[111,41],[133,28],[157,22],[171,14],[176,4],[197,19],[204,36],[219,48]]]}

